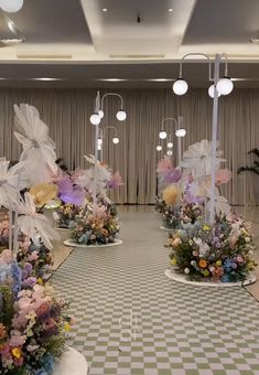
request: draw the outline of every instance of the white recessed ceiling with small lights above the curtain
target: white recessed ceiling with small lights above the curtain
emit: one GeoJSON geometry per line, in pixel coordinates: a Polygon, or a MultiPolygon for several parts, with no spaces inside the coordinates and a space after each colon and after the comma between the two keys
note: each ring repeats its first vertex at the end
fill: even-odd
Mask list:
{"type": "MultiPolygon", "coordinates": [[[[0,49],[0,86],[168,87],[190,52],[228,53],[237,85],[259,86],[259,44],[249,41],[259,0],[24,0],[9,17],[25,42],[0,49]]],[[[1,23],[0,38],[9,34],[1,23]]],[[[184,72],[199,87],[206,66],[196,62],[184,72]]]]}

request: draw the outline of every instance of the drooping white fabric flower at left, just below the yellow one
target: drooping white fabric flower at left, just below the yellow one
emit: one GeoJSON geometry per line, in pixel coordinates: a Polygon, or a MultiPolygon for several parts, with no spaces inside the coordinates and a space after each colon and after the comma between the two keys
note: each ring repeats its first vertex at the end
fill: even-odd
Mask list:
{"type": "Polygon", "coordinates": [[[22,215],[18,218],[18,225],[23,234],[32,238],[34,244],[39,245],[40,236],[45,246],[52,248],[51,239],[60,239],[48,219],[36,213],[33,196],[30,193],[24,194],[24,203],[20,203],[19,212],[22,215]]]}

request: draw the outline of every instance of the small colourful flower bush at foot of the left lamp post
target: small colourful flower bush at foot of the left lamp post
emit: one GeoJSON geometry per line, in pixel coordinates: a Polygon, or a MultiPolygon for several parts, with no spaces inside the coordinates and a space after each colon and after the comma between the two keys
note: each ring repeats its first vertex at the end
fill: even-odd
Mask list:
{"type": "Polygon", "coordinates": [[[119,232],[117,210],[115,205],[98,205],[93,212],[88,207],[84,216],[77,217],[73,224],[71,237],[84,245],[105,245],[115,242],[119,232]]]}

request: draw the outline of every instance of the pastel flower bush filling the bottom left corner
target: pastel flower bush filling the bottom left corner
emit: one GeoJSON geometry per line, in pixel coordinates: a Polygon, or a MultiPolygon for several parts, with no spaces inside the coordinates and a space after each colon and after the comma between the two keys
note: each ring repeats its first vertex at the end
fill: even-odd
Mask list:
{"type": "Polygon", "coordinates": [[[9,253],[0,256],[0,373],[51,375],[72,323],[67,304],[47,283],[24,288],[23,270],[9,253]]]}

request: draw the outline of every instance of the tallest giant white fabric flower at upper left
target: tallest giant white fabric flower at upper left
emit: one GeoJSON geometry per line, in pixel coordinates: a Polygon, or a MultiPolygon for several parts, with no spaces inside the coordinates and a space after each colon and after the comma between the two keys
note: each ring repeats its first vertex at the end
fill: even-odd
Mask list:
{"type": "Polygon", "coordinates": [[[20,160],[26,161],[26,173],[33,183],[51,180],[51,173],[56,173],[55,143],[48,137],[48,127],[40,119],[35,107],[28,104],[14,106],[14,136],[22,144],[20,160]]]}

